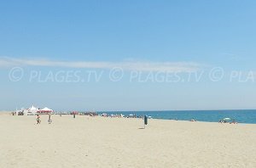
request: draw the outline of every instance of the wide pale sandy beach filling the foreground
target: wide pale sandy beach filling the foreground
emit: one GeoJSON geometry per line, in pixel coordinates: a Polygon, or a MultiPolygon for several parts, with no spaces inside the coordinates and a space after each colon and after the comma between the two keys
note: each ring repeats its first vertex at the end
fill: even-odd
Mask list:
{"type": "Polygon", "coordinates": [[[0,167],[256,167],[256,125],[0,115],[0,167]]]}

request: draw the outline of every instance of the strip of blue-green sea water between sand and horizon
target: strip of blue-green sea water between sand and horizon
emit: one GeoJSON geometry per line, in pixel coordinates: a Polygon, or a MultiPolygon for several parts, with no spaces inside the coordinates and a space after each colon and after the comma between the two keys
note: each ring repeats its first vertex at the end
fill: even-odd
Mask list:
{"type": "Polygon", "coordinates": [[[163,120],[198,120],[207,122],[218,122],[224,118],[236,120],[239,123],[256,124],[256,109],[250,110],[186,110],[186,111],[122,111],[107,112],[108,115],[123,114],[125,116],[149,115],[153,119],[163,120]]]}

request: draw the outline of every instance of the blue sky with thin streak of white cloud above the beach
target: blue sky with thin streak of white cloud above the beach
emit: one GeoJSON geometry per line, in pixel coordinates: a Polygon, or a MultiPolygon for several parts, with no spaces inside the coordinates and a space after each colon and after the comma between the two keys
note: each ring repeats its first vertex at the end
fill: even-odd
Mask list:
{"type": "Polygon", "coordinates": [[[0,109],[256,109],[255,8],[0,0],[0,109]]]}

